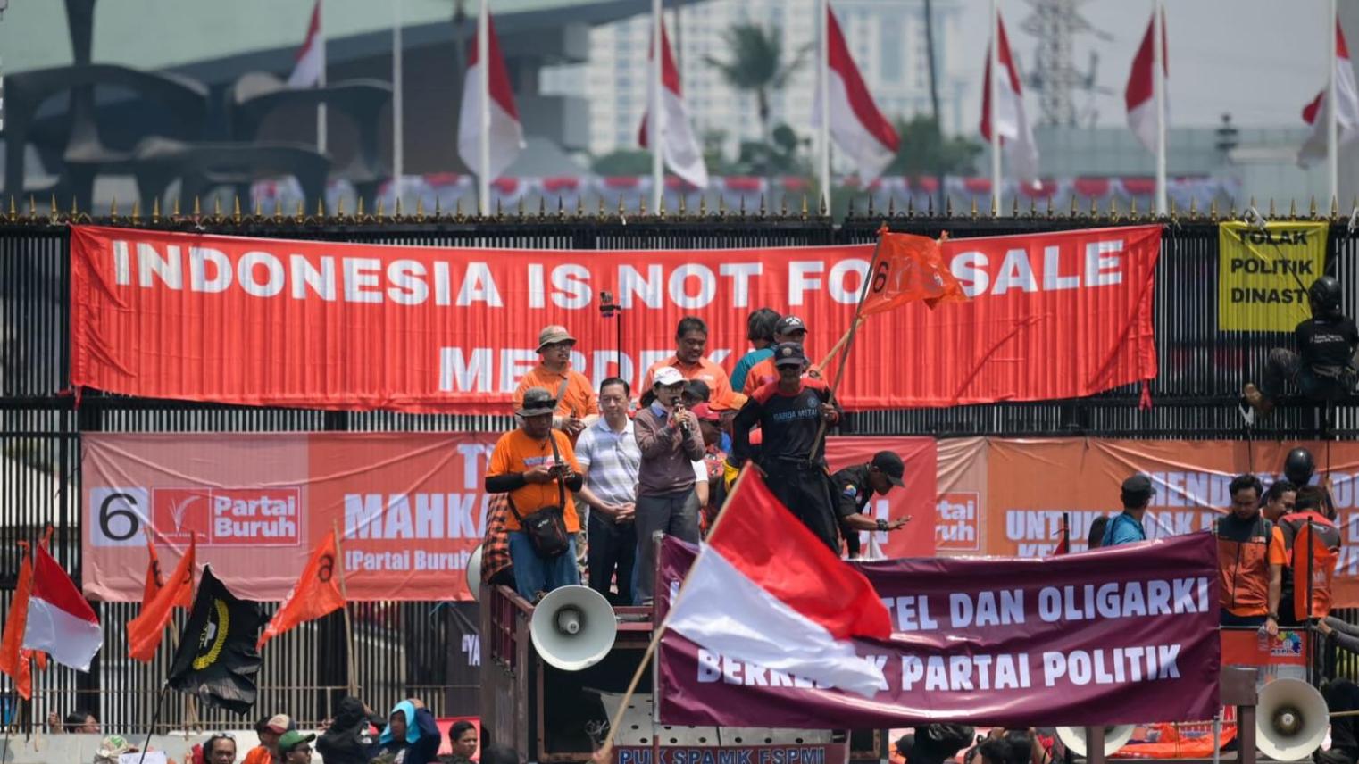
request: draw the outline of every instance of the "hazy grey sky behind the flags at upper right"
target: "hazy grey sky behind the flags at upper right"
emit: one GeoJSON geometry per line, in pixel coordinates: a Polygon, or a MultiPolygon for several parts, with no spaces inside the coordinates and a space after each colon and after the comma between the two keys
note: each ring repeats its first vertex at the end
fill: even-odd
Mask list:
{"type": "MultiPolygon", "coordinates": [[[[981,65],[985,56],[989,3],[964,0],[962,35],[976,41],[972,61],[961,72],[978,94],[968,99],[964,124],[976,124],[981,103],[981,65]]],[[[1354,20],[1355,0],[1340,0],[1341,15],[1354,20]]],[[[1025,75],[1033,67],[1037,39],[1019,29],[1033,12],[1027,0],[1000,0],[1010,45],[1019,54],[1025,75]]],[[[1110,94],[1078,94],[1076,107],[1093,106],[1098,124],[1123,125],[1123,91],[1132,56],[1151,19],[1151,0],[1090,0],[1079,12],[1097,30],[1078,37],[1072,56],[1086,71],[1090,50],[1098,49],[1097,82],[1110,94]]],[[[1170,122],[1180,126],[1216,125],[1223,111],[1245,126],[1302,126],[1301,110],[1325,84],[1325,0],[1167,0],[1166,37],[1170,64],[1170,122]]],[[[1354,29],[1354,27],[1351,27],[1354,29]]],[[[1026,92],[1029,113],[1037,98],[1026,92]]]]}

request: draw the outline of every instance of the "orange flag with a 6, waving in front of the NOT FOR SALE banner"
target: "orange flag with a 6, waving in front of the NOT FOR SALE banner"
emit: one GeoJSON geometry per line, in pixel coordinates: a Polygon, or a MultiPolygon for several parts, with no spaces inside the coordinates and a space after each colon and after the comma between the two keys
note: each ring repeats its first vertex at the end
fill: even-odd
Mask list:
{"type": "Polygon", "coordinates": [[[965,302],[962,284],[943,261],[939,242],[913,234],[878,231],[878,264],[860,313],[872,315],[924,302],[931,309],[940,302],[965,302]]]}

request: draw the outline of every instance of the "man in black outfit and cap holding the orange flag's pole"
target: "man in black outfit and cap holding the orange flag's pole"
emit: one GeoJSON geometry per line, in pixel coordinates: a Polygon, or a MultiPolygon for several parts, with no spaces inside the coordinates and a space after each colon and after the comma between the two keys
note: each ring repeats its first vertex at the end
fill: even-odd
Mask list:
{"type": "Polygon", "coordinates": [[[830,400],[825,382],[803,378],[807,356],[802,345],[780,343],[775,347],[773,362],[779,381],[757,389],[737,413],[727,461],[739,468],[753,455],[750,430],[758,426],[762,442],[756,464],[769,491],[839,555],[840,522],[830,499],[821,423],[840,421],[840,409],[830,400]]]}

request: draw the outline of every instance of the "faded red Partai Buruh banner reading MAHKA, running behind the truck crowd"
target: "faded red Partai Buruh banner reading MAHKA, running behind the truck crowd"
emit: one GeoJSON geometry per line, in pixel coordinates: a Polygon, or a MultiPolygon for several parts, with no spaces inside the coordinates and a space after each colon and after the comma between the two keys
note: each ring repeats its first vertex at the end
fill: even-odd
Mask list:
{"type": "MultiPolygon", "coordinates": [[[[173,570],[197,536],[198,566],[246,600],[279,601],[332,527],[349,600],[470,600],[463,568],[485,533],[495,432],[102,434],[82,440],[86,597],[135,602],[144,529],[173,570]]],[[[905,488],[874,517],[912,515],[875,541],[893,557],[934,553],[931,438],[830,438],[833,468],[892,450],[905,488]]],[[[866,534],[867,536],[867,534],[866,534]]],[[[867,541],[866,541],[867,545],[867,541]]]]}

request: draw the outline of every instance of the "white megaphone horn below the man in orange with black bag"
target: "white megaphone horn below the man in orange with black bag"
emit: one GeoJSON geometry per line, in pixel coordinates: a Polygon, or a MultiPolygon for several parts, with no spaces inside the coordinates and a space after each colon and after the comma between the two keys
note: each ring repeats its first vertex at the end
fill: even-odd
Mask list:
{"type": "Polygon", "coordinates": [[[613,650],[618,620],[603,594],[588,586],[553,589],[533,608],[533,648],[564,672],[594,666],[613,650]]]}

